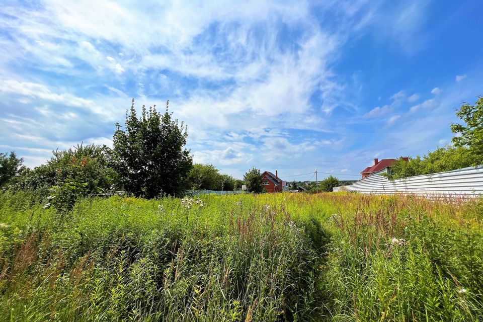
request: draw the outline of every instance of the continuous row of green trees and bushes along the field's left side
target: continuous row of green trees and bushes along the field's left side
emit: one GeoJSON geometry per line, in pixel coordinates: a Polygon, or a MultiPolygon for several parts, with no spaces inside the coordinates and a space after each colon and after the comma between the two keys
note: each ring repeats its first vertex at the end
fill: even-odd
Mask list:
{"type": "Polygon", "coordinates": [[[0,153],[0,188],[31,191],[47,206],[72,207],[82,196],[123,192],[136,197],[181,196],[190,190],[240,189],[243,182],[220,174],[213,165],[194,164],[186,148],[187,126],[164,112],[132,100],[125,123],[116,123],[113,147],[85,145],[53,150],[46,164],[29,169],[12,151],[0,153]]]}

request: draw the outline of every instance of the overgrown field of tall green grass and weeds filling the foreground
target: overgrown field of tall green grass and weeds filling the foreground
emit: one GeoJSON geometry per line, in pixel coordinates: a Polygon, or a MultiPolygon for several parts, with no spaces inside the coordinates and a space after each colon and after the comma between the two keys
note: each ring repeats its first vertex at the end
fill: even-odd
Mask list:
{"type": "Polygon", "coordinates": [[[475,321],[483,202],[0,195],[0,319],[475,321]]]}

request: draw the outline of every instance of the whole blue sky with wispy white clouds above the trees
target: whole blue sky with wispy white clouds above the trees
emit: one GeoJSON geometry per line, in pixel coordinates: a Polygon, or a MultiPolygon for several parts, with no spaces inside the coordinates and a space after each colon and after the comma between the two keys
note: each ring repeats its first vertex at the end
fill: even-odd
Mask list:
{"type": "Polygon", "coordinates": [[[449,143],[483,95],[478,0],[2,3],[0,151],[30,167],[111,145],[134,98],[170,100],[223,173],[357,179],[449,143]]]}

